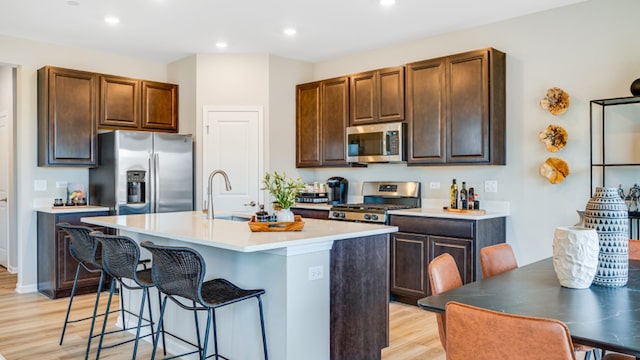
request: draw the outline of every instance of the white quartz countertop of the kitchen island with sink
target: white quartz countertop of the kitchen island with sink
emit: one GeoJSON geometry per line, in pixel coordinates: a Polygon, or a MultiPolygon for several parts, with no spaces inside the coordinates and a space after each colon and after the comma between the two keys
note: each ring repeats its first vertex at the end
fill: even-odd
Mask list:
{"type": "MultiPolygon", "coordinates": [[[[216,215],[222,215],[216,212],[216,215]]],[[[226,214],[229,215],[229,214],[226,214]]],[[[201,211],[82,218],[83,222],[239,252],[255,252],[388,234],[396,226],[304,218],[302,231],[252,232],[246,221],[207,220],[201,211]]],[[[141,236],[142,240],[144,236],[141,236]]]]}

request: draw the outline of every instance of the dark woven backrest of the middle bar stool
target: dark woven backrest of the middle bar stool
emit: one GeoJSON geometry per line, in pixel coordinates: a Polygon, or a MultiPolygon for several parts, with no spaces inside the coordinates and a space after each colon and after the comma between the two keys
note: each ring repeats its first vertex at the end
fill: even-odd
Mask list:
{"type": "Polygon", "coordinates": [[[127,236],[105,235],[100,231],[91,234],[102,245],[102,268],[111,276],[121,279],[132,279],[138,285],[138,262],[140,248],[127,236]]]}

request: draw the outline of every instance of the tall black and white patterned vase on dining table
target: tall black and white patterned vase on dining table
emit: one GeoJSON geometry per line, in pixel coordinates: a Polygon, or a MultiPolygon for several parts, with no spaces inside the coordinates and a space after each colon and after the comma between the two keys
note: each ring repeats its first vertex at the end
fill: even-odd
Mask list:
{"type": "Polygon", "coordinates": [[[629,278],[629,213],[617,188],[596,188],[585,209],[585,227],[598,232],[594,285],[625,286],[629,278]]]}

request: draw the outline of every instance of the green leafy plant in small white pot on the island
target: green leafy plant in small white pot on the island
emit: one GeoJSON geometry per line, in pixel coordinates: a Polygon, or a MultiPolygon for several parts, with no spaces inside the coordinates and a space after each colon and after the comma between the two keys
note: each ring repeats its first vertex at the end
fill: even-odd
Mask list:
{"type": "Polygon", "coordinates": [[[289,209],[296,203],[296,196],[304,189],[304,182],[300,178],[293,179],[286,173],[278,174],[274,171],[273,174],[265,173],[262,183],[262,190],[269,190],[275,199],[274,203],[280,208],[276,214],[278,221],[294,221],[289,209]]]}

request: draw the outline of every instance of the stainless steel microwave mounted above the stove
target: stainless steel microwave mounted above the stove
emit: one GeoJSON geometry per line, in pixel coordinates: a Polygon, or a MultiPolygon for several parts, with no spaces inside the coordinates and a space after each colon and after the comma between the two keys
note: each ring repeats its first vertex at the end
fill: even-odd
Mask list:
{"type": "Polygon", "coordinates": [[[347,128],[347,162],[402,162],[404,123],[383,123],[347,128]]]}

